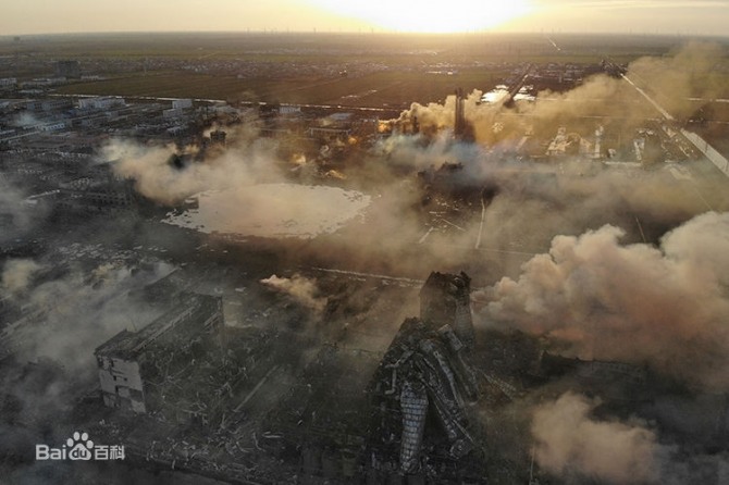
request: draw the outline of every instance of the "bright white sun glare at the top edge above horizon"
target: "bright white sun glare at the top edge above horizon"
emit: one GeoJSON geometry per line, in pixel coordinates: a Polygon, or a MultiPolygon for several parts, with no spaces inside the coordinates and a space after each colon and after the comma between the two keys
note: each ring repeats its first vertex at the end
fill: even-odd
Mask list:
{"type": "Polygon", "coordinates": [[[331,12],[396,32],[459,33],[497,27],[530,13],[530,0],[311,0],[331,12]]]}

